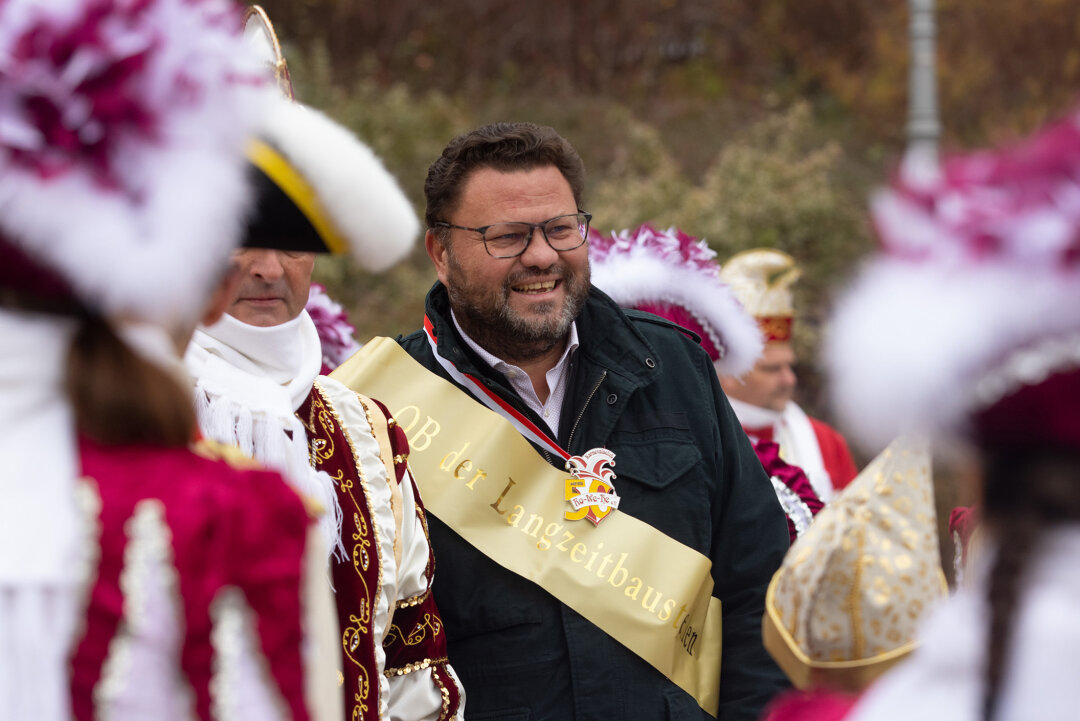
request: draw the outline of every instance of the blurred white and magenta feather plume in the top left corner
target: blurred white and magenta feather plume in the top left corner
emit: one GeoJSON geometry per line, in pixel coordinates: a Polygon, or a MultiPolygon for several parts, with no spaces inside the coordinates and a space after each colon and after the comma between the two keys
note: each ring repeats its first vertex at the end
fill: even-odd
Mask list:
{"type": "Polygon", "coordinates": [[[193,318],[267,86],[224,0],[0,2],[0,289],[193,318]]]}

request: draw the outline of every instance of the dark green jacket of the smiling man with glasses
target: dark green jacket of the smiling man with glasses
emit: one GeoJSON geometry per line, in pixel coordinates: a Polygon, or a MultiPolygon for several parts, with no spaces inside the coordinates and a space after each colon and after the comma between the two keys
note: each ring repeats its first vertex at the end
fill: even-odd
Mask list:
{"type": "MultiPolygon", "coordinates": [[[[546,428],[504,378],[461,340],[446,288],[428,294],[440,354],[546,428]]],[[[657,316],[623,312],[593,288],[577,318],[563,407],[564,449],[616,454],[617,513],[713,560],[723,601],[720,713],[757,721],[786,685],[761,645],[765,589],[788,546],[761,463],[720,391],[708,355],[657,316]]],[[[423,331],[399,338],[440,376],[423,331]]],[[[562,468],[563,461],[553,464],[562,468]]],[[[435,600],[473,719],[707,719],[693,698],[534,583],[497,566],[434,516],[435,600]]]]}

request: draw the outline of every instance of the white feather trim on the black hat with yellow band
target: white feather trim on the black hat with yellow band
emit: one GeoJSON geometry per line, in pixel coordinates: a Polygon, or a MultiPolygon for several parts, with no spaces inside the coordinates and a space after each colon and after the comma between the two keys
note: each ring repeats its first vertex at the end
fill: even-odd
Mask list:
{"type": "Polygon", "coordinates": [[[420,234],[408,196],[375,152],[322,112],[274,103],[259,137],[311,187],[349,254],[372,272],[405,258],[420,234]]]}

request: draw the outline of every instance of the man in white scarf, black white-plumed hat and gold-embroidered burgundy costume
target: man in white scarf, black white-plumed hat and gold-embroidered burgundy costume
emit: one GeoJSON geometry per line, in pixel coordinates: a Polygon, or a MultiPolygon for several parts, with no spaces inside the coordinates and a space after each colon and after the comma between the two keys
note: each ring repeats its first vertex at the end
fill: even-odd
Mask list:
{"type": "MultiPolygon", "coordinates": [[[[252,15],[248,31],[273,38],[264,18],[252,15]]],[[[416,214],[366,145],[286,97],[248,158],[257,202],[232,256],[239,283],[185,354],[200,426],[328,509],[345,718],[460,718],[408,443],[378,400],[320,376],[305,310],[316,254],[349,251],[383,270],[413,246],[416,214]]]]}

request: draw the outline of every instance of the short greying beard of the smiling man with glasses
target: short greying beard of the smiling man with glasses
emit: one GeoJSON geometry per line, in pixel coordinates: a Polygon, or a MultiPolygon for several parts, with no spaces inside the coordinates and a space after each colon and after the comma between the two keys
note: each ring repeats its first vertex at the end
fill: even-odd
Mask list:
{"type": "Polygon", "coordinates": [[[563,342],[585,304],[589,281],[586,274],[583,289],[577,284],[567,289],[563,311],[554,319],[536,322],[515,314],[510,303],[499,305],[492,315],[455,294],[453,288],[447,287],[447,293],[458,323],[477,345],[500,359],[521,362],[538,358],[563,342]]]}

